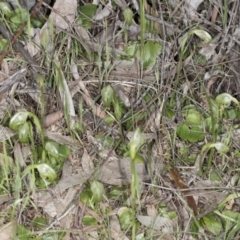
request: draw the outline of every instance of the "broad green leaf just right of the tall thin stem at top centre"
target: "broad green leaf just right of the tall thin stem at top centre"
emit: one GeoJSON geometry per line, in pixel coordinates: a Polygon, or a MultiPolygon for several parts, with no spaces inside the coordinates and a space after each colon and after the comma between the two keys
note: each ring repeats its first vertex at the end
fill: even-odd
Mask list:
{"type": "Polygon", "coordinates": [[[162,44],[153,40],[148,40],[143,47],[141,63],[143,69],[150,70],[156,64],[159,52],[162,50],[162,44]]]}

